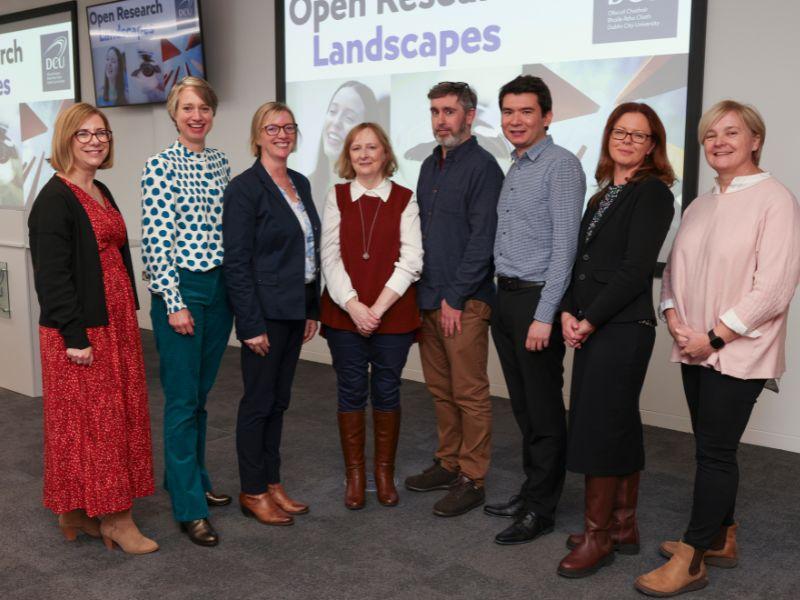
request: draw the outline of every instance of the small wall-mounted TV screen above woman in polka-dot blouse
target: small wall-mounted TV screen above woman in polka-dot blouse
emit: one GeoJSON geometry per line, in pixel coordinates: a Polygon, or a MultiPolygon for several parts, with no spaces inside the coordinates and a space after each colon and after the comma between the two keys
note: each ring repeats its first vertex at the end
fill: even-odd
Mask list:
{"type": "Polygon", "coordinates": [[[164,102],[206,77],[199,0],[118,0],[86,8],[97,106],[164,102]]]}

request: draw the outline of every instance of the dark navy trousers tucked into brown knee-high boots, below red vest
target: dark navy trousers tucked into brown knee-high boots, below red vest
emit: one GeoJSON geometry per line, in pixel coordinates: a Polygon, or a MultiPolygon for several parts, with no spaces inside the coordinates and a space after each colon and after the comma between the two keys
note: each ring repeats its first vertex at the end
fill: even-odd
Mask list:
{"type": "Polygon", "coordinates": [[[414,342],[413,332],[364,337],[326,327],[325,337],[336,371],[339,412],[364,410],[369,398],[375,410],[400,408],[400,376],[414,342]]]}

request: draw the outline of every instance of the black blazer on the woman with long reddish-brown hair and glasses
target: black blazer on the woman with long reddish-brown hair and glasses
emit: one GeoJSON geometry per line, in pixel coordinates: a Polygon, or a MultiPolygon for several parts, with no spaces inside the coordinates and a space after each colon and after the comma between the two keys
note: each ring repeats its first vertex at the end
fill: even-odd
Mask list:
{"type": "Polygon", "coordinates": [[[597,212],[581,221],[578,254],[562,310],[595,327],[655,319],[653,272],[675,214],[675,198],[660,180],[627,184],[603,214],[587,243],[597,212]]]}

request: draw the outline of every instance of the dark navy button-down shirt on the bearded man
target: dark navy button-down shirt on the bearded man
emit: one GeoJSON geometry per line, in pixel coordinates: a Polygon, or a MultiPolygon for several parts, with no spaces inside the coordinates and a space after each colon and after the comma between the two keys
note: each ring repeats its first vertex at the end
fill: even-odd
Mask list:
{"type": "Polygon", "coordinates": [[[503,171],[473,136],[447,152],[437,146],[419,172],[417,200],[425,250],[417,302],[423,310],[442,298],[459,310],[474,298],[494,298],[492,248],[503,171]]]}

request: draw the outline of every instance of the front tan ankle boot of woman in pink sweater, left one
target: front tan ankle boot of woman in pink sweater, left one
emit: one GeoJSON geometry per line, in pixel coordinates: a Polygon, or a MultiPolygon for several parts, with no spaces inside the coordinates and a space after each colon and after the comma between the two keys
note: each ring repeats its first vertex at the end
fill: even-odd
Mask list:
{"type": "Polygon", "coordinates": [[[633,585],[643,594],[657,598],[701,590],[708,585],[703,551],[678,542],[667,564],[641,575],[633,585]]]}

